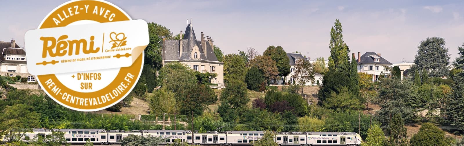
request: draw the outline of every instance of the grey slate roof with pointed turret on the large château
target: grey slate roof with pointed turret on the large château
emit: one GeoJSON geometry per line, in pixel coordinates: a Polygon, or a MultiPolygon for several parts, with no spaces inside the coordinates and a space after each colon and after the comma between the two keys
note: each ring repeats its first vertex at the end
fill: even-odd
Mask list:
{"type": "Polygon", "coordinates": [[[197,40],[193,26],[187,25],[184,36],[182,38],[182,53],[179,55],[180,40],[165,40],[163,44],[163,59],[164,60],[192,60],[191,52],[193,46],[197,45],[199,50],[199,57],[201,60],[218,61],[214,54],[213,46],[206,42],[206,52],[203,52],[201,40],[197,40]],[[206,56],[205,56],[206,54],[206,56]]]}

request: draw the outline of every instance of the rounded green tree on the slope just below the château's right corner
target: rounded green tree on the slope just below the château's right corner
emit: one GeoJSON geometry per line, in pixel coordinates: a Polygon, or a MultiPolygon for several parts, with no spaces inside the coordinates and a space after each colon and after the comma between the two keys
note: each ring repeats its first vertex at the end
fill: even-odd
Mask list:
{"type": "Polygon", "coordinates": [[[221,91],[221,101],[226,101],[232,108],[244,107],[250,101],[246,94],[246,85],[243,81],[230,80],[226,83],[226,88],[221,91]]]}

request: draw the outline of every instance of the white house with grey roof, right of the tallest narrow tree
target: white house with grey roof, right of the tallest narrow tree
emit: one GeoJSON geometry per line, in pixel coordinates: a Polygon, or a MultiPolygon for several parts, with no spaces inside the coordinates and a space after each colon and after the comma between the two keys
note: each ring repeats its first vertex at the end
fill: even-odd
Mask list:
{"type": "Polygon", "coordinates": [[[362,56],[361,52],[358,52],[358,59],[356,61],[358,62],[358,72],[371,74],[372,81],[379,80],[382,73],[390,73],[390,71],[385,70],[385,67],[392,67],[392,63],[381,57],[380,53],[375,52],[366,52],[362,56]]]}

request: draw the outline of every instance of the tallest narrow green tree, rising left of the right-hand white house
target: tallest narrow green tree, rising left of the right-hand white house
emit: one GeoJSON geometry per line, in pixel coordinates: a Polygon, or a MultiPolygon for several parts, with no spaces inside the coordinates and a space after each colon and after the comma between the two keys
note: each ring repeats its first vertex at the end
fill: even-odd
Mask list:
{"type": "Polygon", "coordinates": [[[342,23],[335,19],[335,26],[330,29],[329,70],[341,70],[348,75],[349,57],[348,45],[343,41],[342,23]]]}

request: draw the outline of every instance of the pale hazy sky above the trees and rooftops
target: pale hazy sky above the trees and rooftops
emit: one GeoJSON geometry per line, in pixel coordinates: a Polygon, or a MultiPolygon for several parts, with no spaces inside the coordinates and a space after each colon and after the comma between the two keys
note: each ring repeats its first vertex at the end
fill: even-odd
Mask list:
{"type": "MultiPolygon", "coordinates": [[[[65,0],[0,0],[0,41],[24,47],[26,31],[65,0]]],[[[445,38],[452,62],[464,42],[462,0],[108,0],[132,19],[210,36],[225,54],[280,45],[315,60],[330,55],[330,28],[339,19],[351,52],[376,52],[391,63],[413,62],[420,41],[445,38]]],[[[27,46],[26,46],[27,48],[27,46]]],[[[350,53],[351,54],[351,53],[350,53]]],[[[357,57],[357,56],[356,56],[357,57]]]]}

